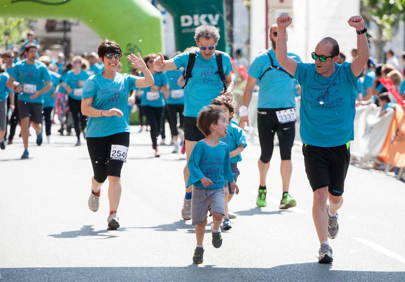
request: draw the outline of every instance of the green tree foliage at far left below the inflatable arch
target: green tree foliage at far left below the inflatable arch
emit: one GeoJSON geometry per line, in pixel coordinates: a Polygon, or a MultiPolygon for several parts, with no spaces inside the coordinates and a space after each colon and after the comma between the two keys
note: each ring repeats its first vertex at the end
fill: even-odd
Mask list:
{"type": "Polygon", "coordinates": [[[26,32],[30,30],[31,19],[0,17],[0,48],[7,44],[19,44],[20,40],[26,38],[26,32]],[[9,32],[9,39],[6,42],[4,32],[9,32]]]}

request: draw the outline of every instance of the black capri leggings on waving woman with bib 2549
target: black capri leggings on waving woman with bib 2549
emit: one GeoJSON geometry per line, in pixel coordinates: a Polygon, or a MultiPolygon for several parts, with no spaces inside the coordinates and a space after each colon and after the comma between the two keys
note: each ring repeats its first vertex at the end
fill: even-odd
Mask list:
{"type": "Polygon", "coordinates": [[[122,160],[111,160],[111,145],[129,147],[129,133],[122,132],[105,137],[87,137],[87,149],[92,160],[94,179],[103,183],[108,175],[121,177],[122,160]]]}

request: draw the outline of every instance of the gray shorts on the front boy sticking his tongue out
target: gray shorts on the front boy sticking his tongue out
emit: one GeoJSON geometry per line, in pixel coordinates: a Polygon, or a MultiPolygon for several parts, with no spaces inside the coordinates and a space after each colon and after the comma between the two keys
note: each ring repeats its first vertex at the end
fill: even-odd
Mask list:
{"type": "Polygon", "coordinates": [[[191,224],[196,225],[203,222],[207,218],[208,211],[210,213],[225,215],[224,196],[224,188],[200,189],[193,187],[191,196],[191,224]]]}

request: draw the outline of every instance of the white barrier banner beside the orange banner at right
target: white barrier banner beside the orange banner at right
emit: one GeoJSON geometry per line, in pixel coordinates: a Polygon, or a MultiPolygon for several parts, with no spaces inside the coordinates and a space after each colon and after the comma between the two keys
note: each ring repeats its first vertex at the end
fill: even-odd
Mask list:
{"type": "Polygon", "coordinates": [[[356,107],[354,118],[354,141],[350,143],[353,156],[377,157],[384,145],[394,111],[389,110],[379,117],[381,107],[367,105],[356,107]]]}

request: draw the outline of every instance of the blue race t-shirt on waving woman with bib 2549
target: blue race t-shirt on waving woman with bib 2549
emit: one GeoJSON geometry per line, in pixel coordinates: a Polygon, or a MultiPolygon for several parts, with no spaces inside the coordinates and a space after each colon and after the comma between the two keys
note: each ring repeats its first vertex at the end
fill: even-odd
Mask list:
{"type": "Polygon", "coordinates": [[[90,76],[83,86],[83,99],[93,97],[92,107],[108,111],[120,109],[124,115],[92,118],[87,117],[86,137],[105,137],[122,132],[130,132],[128,117],[128,93],[135,86],[136,76],[115,74],[107,79],[102,74],[90,76]]]}

